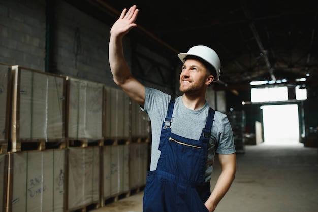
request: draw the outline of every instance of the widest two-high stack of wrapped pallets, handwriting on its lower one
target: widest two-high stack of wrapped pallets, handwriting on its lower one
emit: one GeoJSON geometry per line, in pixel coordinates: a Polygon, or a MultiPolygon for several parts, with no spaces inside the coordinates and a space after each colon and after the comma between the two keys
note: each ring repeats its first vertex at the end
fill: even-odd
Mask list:
{"type": "Polygon", "coordinates": [[[6,211],[63,211],[66,77],[10,69],[6,211]]]}

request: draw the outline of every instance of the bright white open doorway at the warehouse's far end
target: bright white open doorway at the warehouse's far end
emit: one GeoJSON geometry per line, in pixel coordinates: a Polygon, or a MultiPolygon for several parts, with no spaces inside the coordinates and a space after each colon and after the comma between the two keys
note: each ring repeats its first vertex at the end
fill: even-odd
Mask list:
{"type": "Polygon", "coordinates": [[[298,105],[264,105],[263,126],[266,144],[299,144],[298,105]]]}

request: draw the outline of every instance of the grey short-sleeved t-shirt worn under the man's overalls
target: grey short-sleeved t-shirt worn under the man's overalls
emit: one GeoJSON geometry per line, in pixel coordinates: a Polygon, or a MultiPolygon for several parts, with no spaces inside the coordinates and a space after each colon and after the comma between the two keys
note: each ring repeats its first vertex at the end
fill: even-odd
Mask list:
{"type": "MultiPolygon", "coordinates": [[[[167,115],[168,104],[171,96],[162,91],[146,87],[145,105],[142,110],[147,112],[151,121],[151,163],[150,171],[156,170],[160,150],[160,134],[163,121],[167,115]]],[[[199,140],[202,129],[205,127],[209,113],[209,104],[198,110],[185,107],[182,96],[176,98],[172,114],[171,132],[189,139],[199,140]]],[[[233,132],[227,116],[215,111],[214,121],[211,129],[210,141],[207,150],[207,161],[205,164],[205,182],[210,181],[215,152],[218,154],[235,153],[233,132]],[[215,146],[217,148],[215,149],[215,146]]]]}

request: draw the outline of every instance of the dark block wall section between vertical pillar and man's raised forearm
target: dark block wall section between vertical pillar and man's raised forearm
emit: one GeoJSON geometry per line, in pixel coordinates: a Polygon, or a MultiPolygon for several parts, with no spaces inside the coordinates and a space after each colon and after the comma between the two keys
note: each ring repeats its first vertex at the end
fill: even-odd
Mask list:
{"type": "Polygon", "coordinates": [[[114,84],[108,62],[110,27],[63,1],[57,1],[55,11],[57,72],[114,84]]]}

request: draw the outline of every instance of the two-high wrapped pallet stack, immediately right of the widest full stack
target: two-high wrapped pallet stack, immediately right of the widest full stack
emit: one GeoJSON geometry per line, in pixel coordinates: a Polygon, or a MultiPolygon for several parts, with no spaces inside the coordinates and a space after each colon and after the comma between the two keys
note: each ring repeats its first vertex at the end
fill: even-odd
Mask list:
{"type": "Polygon", "coordinates": [[[68,78],[66,210],[100,207],[104,85],[68,78]]]}

